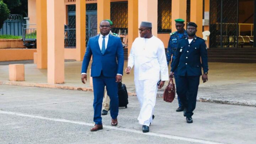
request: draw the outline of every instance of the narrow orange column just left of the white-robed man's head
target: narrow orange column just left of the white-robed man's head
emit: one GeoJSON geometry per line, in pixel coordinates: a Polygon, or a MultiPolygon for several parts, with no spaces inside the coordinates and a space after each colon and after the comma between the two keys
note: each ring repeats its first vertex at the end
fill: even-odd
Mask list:
{"type": "Polygon", "coordinates": [[[138,0],[128,0],[128,57],[132,43],[138,37],[138,0]]]}

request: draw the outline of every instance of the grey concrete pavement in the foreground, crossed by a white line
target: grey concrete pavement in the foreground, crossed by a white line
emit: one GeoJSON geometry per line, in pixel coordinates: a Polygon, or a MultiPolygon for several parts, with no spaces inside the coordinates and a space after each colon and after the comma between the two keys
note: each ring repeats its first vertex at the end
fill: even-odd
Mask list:
{"type": "Polygon", "coordinates": [[[197,102],[194,123],[175,112],[177,101],[158,97],[150,133],[137,122],[139,103],[129,96],[119,108],[118,127],[110,114],[103,130],[93,125],[93,94],[85,91],[0,85],[0,143],[234,143],[254,144],[255,107],[197,102]]]}

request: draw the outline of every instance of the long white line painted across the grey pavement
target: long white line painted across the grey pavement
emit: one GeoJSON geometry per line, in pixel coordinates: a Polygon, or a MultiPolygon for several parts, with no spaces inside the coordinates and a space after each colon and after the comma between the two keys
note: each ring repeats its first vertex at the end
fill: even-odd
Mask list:
{"type": "MultiPolygon", "coordinates": [[[[81,124],[81,125],[86,125],[86,126],[94,126],[93,123],[85,123],[85,122],[79,122],[79,121],[70,121],[70,120],[66,120],[66,119],[42,117],[42,116],[36,116],[36,115],[31,115],[31,114],[23,114],[23,113],[7,112],[7,111],[0,111],[0,113],[1,114],[15,115],[15,116],[22,116],[22,117],[45,119],[45,120],[48,120],[48,121],[55,121],[55,122],[66,122],[66,123],[81,124]]],[[[153,132],[143,133],[141,130],[128,129],[128,128],[122,128],[122,127],[118,128],[118,127],[104,126],[104,128],[112,129],[112,130],[120,130],[120,131],[124,131],[124,132],[144,134],[144,135],[151,135],[151,136],[155,136],[155,137],[162,137],[162,138],[168,138],[168,139],[184,140],[184,141],[187,141],[187,142],[194,142],[194,143],[225,144],[225,143],[213,142],[213,141],[209,141],[209,140],[185,138],[185,137],[180,137],[180,136],[175,136],[175,135],[159,134],[159,133],[153,133],[153,132]]]]}

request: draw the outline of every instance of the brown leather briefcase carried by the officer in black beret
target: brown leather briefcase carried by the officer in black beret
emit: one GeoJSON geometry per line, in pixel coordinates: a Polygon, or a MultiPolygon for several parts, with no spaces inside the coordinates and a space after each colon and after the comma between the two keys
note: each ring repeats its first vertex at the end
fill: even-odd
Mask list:
{"type": "Polygon", "coordinates": [[[166,102],[172,102],[175,98],[175,84],[172,78],[169,80],[169,83],[165,88],[163,98],[164,98],[164,101],[166,102]]]}

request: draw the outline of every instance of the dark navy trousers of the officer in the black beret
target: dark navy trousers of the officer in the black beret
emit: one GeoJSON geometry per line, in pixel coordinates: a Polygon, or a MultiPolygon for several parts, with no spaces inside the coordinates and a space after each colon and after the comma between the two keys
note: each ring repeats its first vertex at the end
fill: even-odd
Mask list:
{"type": "Polygon", "coordinates": [[[184,116],[191,117],[196,108],[200,76],[178,76],[175,79],[176,92],[184,109],[184,116]]]}

